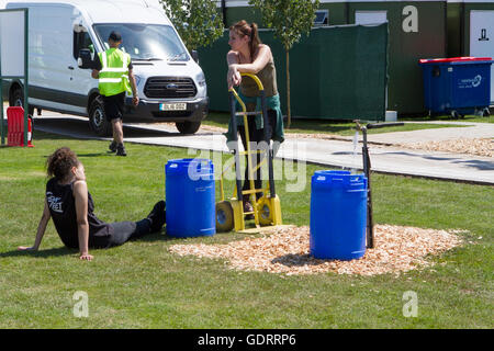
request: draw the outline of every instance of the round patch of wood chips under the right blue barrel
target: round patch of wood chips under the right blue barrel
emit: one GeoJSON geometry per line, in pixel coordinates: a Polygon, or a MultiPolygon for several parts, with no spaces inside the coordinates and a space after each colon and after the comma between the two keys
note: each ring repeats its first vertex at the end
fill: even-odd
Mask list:
{"type": "Polygon", "coordinates": [[[224,259],[229,269],[270,273],[400,275],[434,265],[430,254],[440,254],[462,245],[459,233],[391,225],[374,226],[374,248],[358,260],[318,260],[310,254],[310,228],[285,226],[262,237],[246,237],[226,245],[173,245],[179,256],[224,259]]]}

